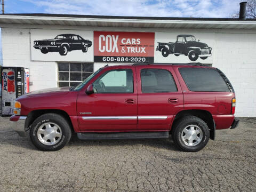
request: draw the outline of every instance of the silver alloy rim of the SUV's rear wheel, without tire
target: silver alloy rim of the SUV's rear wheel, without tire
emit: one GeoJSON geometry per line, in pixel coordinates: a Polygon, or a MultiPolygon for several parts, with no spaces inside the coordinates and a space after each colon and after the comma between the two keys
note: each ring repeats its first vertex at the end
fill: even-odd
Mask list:
{"type": "Polygon", "coordinates": [[[181,132],[181,140],[186,146],[196,146],[202,139],[202,129],[197,125],[188,125],[181,132]]]}

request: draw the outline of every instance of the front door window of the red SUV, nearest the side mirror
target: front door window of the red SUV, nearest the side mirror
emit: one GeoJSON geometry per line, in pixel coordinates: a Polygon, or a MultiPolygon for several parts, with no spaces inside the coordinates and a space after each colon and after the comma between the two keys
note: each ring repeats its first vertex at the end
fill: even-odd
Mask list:
{"type": "Polygon", "coordinates": [[[94,83],[95,93],[133,93],[132,69],[107,71],[94,83]]]}

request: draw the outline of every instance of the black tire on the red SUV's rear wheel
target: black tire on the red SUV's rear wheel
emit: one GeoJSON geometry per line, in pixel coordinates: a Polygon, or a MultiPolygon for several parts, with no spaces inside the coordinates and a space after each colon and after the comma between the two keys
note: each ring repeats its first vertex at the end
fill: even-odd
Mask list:
{"type": "MultiPolygon", "coordinates": [[[[195,130],[195,127],[194,127],[195,130]]],[[[199,138],[198,137],[198,138],[199,138]]],[[[175,124],[172,127],[172,139],[175,143],[175,146],[177,146],[178,149],[182,151],[188,151],[188,152],[195,152],[203,149],[207,142],[209,141],[210,137],[210,131],[207,124],[201,119],[196,116],[185,116],[178,120],[178,122],[175,122],[175,124]],[[202,137],[201,141],[196,143],[197,141],[193,141],[191,145],[194,146],[188,146],[189,143],[182,140],[182,134],[183,130],[186,129],[189,125],[199,127],[201,129],[201,132],[198,133],[196,136],[202,137]],[[201,135],[202,134],[202,135],[201,135]]],[[[190,135],[191,138],[191,135],[190,135]]],[[[192,139],[191,139],[192,140],[192,139]]]]}

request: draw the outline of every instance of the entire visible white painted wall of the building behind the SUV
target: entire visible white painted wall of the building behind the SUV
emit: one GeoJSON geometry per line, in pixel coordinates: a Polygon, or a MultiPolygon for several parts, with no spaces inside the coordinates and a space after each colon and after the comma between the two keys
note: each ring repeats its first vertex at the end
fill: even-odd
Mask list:
{"type": "MultiPolygon", "coordinates": [[[[236,116],[256,116],[256,31],[220,29],[150,29],[65,26],[12,26],[2,28],[3,65],[30,69],[31,91],[57,86],[57,64],[31,61],[30,28],[108,31],[163,31],[208,33],[215,39],[213,67],[226,74],[236,93],[236,116]]],[[[116,65],[119,63],[116,63],[116,65]]],[[[106,63],[94,63],[94,70],[106,63]]],[[[111,64],[115,65],[115,64],[111,64]]]]}

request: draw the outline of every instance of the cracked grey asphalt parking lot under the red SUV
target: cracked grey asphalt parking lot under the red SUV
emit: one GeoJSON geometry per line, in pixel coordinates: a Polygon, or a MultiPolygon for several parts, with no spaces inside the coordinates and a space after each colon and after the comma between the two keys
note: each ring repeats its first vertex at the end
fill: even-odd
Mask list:
{"type": "Polygon", "coordinates": [[[0,117],[0,191],[256,191],[256,118],[197,153],[171,139],[80,141],[37,150],[0,117]]]}

